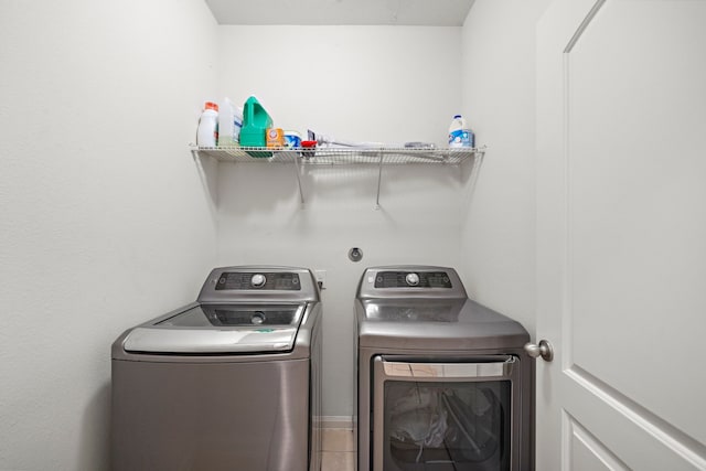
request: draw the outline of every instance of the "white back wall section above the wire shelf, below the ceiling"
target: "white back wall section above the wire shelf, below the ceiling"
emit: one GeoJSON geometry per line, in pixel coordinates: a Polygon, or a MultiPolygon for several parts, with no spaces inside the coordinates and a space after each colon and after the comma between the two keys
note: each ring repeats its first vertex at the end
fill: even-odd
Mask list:
{"type": "Polygon", "coordinates": [[[446,143],[461,106],[460,29],[220,26],[220,92],[275,126],[354,141],[446,143]]]}

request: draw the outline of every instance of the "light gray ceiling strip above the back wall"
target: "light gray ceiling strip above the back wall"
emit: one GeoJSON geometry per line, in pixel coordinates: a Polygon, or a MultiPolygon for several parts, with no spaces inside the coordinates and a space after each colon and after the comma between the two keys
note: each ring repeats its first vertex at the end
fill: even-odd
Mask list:
{"type": "Polygon", "coordinates": [[[205,0],[218,24],[461,26],[474,0],[205,0]]]}

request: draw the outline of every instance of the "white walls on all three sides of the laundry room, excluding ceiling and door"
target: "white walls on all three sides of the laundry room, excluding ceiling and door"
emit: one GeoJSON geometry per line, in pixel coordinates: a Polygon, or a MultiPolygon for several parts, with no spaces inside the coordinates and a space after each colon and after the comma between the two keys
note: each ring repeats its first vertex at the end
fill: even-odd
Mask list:
{"type": "Polygon", "coordinates": [[[366,266],[456,266],[534,325],[532,44],[547,1],[477,0],[463,30],[216,28],[201,0],[3,2],[0,469],[106,469],[109,344],[193,300],[214,265],[328,270],[325,415],[352,413],[366,266]],[[351,140],[442,144],[461,110],[491,150],[472,199],[468,171],[386,168],[375,211],[375,168],[308,168],[301,207],[290,167],[185,149],[201,101],[250,94],[278,126],[351,140]]]}

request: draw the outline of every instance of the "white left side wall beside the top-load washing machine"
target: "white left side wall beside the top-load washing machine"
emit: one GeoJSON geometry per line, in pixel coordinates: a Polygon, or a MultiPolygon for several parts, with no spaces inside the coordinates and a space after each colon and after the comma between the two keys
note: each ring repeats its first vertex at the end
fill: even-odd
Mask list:
{"type": "Polygon", "coordinates": [[[0,3],[0,469],[108,469],[109,346],[193,300],[213,203],[202,0],[0,3]]]}

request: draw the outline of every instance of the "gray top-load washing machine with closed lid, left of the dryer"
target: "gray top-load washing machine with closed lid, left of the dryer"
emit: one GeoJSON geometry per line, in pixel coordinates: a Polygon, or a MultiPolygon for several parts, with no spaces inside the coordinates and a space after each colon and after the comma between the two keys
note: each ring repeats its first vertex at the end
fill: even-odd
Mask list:
{"type": "Polygon", "coordinates": [[[319,471],[310,270],[214,269],[196,302],[113,344],[113,471],[319,471]]]}

